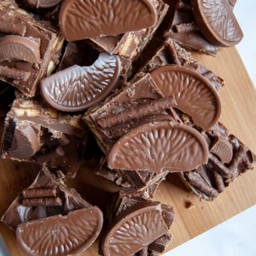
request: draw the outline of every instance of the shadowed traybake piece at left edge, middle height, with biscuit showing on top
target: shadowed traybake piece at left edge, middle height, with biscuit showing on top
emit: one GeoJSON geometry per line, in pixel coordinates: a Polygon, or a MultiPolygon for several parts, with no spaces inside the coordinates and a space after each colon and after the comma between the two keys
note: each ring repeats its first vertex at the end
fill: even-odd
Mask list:
{"type": "Polygon", "coordinates": [[[75,176],[86,147],[81,115],[63,115],[37,100],[18,98],[7,114],[2,158],[47,163],[75,176]]]}

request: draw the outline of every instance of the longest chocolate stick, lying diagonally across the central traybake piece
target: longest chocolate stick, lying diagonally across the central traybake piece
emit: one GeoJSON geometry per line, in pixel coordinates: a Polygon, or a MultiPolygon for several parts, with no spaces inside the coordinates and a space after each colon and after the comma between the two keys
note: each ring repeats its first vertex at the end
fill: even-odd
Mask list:
{"type": "Polygon", "coordinates": [[[102,128],[110,128],[122,122],[129,122],[133,119],[142,118],[149,114],[158,114],[159,112],[170,109],[170,107],[176,105],[177,103],[174,96],[160,98],[158,100],[154,100],[153,102],[146,102],[145,104],[118,114],[107,115],[104,118],[100,118],[98,120],[98,124],[102,126],[102,128]]]}

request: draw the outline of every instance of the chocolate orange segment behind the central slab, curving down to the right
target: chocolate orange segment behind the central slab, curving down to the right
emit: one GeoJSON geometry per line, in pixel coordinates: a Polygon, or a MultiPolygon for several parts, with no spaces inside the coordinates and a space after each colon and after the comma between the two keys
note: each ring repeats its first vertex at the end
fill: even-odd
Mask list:
{"type": "Polygon", "coordinates": [[[177,108],[189,114],[197,126],[210,129],[218,122],[221,102],[218,94],[201,74],[182,66],[162,66],[151,73],[165,96],[174,95],[177,108]]]}

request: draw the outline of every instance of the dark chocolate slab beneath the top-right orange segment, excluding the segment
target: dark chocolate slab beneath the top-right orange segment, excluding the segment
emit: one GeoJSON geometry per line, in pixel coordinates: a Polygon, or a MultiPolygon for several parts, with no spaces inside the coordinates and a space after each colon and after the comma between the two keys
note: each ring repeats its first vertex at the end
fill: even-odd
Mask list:
{"type": "Polygon", "coordinates": [[[210,43],[200,31],[195,22],[190,1],[174,0],[171,2],[170,26],[167,28],[165,38],[174,39],[181,46],[197,50],[203,54],[215,56],[218,46],[210,43]]]}

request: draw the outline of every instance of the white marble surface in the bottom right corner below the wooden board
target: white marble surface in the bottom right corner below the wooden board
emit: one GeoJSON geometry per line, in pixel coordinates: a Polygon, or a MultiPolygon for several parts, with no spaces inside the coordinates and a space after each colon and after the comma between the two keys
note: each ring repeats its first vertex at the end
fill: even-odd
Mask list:
{"type": "Polygon", "coordinates": [[[165,256],[255,256],[256,206],[230,218],[165,256]]]}

